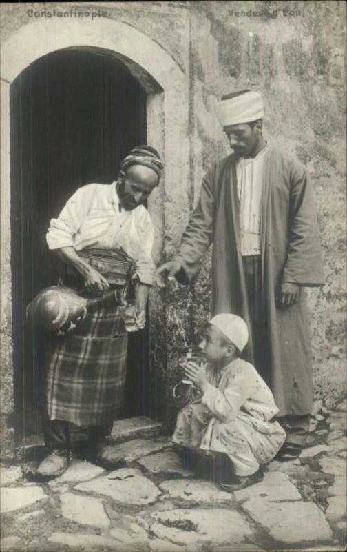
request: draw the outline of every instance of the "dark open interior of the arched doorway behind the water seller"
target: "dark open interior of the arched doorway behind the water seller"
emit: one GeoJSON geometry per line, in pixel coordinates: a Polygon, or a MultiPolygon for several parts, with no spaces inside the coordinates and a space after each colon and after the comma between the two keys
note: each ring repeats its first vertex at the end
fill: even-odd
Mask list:
{"type": "MultiPolygon", "coordinates": [[[[145,144],[147,95],[121,61],[78,49],[32,63],[10,88],[11,264],[14,411],[25,434],[39,433],[39,380],[45,339],[25,324],[25,307],[57,283],[59,262],[45,234],[77,188],[110,184],[119,162],[145,144]]],[[[148,331],[129,334],[122,417],[155,416],[148,331]]]]}

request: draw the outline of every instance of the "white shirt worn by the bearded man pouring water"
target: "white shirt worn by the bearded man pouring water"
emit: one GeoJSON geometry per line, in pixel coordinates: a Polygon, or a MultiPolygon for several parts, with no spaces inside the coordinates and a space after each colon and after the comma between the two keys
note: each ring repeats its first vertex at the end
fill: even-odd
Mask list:
{"type": "Polygon", "coordinates": [[[122,249],[136,262],[140,282],[154,283],[151,217],[142,205],[131,211],[121,209],[115,182],[78,188],[59,217],[51,219],[46,239],[50,249],[122,249]]]}

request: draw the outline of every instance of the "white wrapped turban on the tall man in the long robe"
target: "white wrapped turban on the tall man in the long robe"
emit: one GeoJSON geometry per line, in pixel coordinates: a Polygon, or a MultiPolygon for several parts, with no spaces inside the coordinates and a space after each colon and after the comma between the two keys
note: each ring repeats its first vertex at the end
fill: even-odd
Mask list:
{"type": "Polygon", "coordinates": [[[215,113],[224,126],[257,121],[264,117],[264,103],[260,92],[248,90],[215,104],[215,113]]]}

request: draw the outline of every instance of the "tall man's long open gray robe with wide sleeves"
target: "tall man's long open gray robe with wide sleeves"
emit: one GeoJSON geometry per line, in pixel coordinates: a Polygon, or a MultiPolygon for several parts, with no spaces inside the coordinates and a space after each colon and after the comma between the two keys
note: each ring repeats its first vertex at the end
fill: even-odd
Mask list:
{"type": "MultiPolygon", "coordinates": [[[[281,282],[323,286],[322,255],[306,169],[272,145],[264,160],[261,209],[262,301],[269,328],[271,391],[279,416],[305,415],[311,412],[313,401],[306,295],[301,289],[299,302],[278,308],[275,293],[281,282]]],[[[236,313],[251,328],[239,211],[235,158],[231,154],[204,177],[198,206],[175,259],[180,259],[190,280],[213,242],[213,314],[236,313]]],[[[254,364],[253,335],[244,358],[254,364]]]]}

